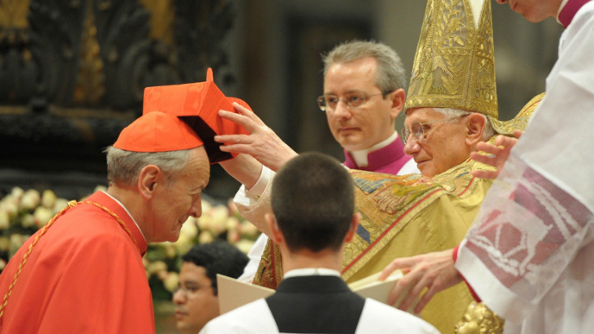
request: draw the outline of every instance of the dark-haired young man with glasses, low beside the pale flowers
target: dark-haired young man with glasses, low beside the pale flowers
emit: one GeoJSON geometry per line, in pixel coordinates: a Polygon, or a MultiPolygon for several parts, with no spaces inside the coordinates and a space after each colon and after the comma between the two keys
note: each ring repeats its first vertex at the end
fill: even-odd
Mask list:
{"type": "Polygon", "coordinates": [[[182,260],[179,288],[173,294],[176,327],[195,334],[220,314],[217,274],[238,278],[248,257],[225,241],[215,241],[195,245],[182,260]]]}

